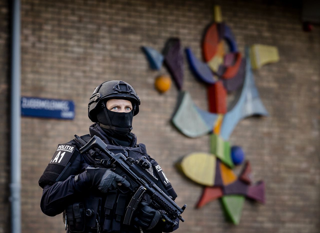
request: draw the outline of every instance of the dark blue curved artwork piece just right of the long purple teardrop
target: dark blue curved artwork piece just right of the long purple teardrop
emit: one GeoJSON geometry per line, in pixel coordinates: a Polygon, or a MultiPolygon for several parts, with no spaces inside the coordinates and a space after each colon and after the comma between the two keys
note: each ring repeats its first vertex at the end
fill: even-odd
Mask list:
{"type": "Polygon", "coordinates": [[[196,78],[206,84],[214,84],[215,80],[213,79],[213,74],[209,66],[206,63],[199,61],[196,56],[193,55],[190,48],[186,48],[185,51],[191,71],[193,71],[196,78]]]}

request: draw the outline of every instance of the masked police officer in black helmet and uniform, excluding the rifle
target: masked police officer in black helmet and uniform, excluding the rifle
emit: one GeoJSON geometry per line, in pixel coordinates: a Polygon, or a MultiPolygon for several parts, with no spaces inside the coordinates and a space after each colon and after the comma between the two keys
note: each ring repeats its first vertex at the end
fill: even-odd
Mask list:
{"type": "Polygon", "coordinates": [[[88,105],[88,116],[94,122],[90,134],[75,135],[75,139],[60,144],[40,177],[42,212],[49,216],[63,212],[68,232],[160,233],[179,227],[161,221],[161,213],[150,205],[148,195],[135,211],[131,225],[124,225],[132,193],[123,192],[121,186],[130,184],[112,168],[99,166],[99,151],[79,152],[96,135],[114,154],[120,152],[135,160],[146,156],[152,164],[151,172],[163,182],[163,191],[174,200],[177,194],[159,164],[147,154],[144,144],[136,144],[137,138],[131,133],[139,105],[139,96],[126,82],[112,80],[97,86],[88,105]]]}

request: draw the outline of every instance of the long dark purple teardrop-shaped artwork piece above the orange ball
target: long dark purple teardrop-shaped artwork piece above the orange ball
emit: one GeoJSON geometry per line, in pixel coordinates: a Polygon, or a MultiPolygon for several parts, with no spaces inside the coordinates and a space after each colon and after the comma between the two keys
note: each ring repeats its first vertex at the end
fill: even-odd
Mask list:
{"type": "Polygon", "coordinates": [[[171,73],[177,88],[181,90],[183,85],[183,56],[180,46],[180,39],[170,38],[164,47],[164,64],[171,73]]]}

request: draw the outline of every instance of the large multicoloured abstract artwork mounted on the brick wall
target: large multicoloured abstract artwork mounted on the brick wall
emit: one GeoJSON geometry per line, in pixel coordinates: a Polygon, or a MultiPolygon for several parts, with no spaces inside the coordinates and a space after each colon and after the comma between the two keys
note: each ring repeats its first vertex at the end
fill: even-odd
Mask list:
{"type": "MultiPolygon", "coordinates": [[[[231,28],[222,21],[220,6],[214,7],[214,19],[215,22],[206,28],[202,41],[204,62],[190,48],[185,49],[190,70],[198,81],[207,85],[209,111],[198,108],[191,95],[181,91],[183,56],[180,40],[170,38],[163,50],[164,64],[180,90],[172,115],[173,125],[190,138],[211,134],[210,153],[188,154],[176,165],[190,180],[204,185],[197,208],[221,198],[227,218],[239,224],[245,198],[265,203],[265,184],[263,181],[252,184],[249,161],[245,162],[242,172],[236,176],[232,169],[245,161],[245,154],[241,147],[231,147],[228,139],[241,119],[268,116],[255,86],[252,68],[258,69],[264,64],[277,62],[279,54],[274,46],[254,44],[250,49],[245,48],[243,57],[231,28]],[[227,104],[228,92],[235,92],[235,98],[227,104]]],[[[147,57],[153,60],[156,60],[154,57],[161,57],[151,48],[145,48],[147,57]]],[[[161,66],[160,60],[153,61],[157,64],[155,67],[161,66]]]]}

